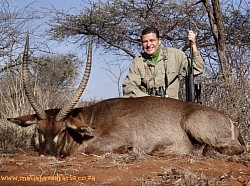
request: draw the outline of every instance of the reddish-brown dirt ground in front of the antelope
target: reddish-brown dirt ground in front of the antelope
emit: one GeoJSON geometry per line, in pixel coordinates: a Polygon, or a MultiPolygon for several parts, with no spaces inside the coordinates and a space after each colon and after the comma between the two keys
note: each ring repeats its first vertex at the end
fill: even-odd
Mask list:
{"type": "Polygon", "coordinates": [[[250,185],[249,155],[235,157],[75,154],[63,160],[33,150],[2,153],[0,185],[250,185]]]}

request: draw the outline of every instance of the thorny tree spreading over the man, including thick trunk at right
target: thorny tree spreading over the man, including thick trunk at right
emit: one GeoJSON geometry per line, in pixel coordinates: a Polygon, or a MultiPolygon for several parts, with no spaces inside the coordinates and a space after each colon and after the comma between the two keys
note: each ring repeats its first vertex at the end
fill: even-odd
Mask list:
{"type": "Polygon", "coordinates": [[[232,42],[233,38],[241,45],[249,45],[249,39],[244,40],[249,38],[249,9],[241,11],[242,7],[239,6],[238,11],[228,11],[235,5],[233,2],[231,5],[223,4],[224,9],[218,0],[212,0],[212,6],[208,0],[197,3],[174,0],[89,2],[74,15],[54,10],[50,35],[57,40],[71,38],[75,42],[86,42],[87,35],[92,34],[96,46],[103,48],[104,52],[131,58],[141,49],[140,32],[147,25],[154,25],[160,30],[164,45],[187,52],[189,42],[186,30],[191,22],[198,33],[198,43],[211,75],[217,77],[223,74],[226,84],[232,85],[233,67],[229,62],[231,51],[228,51],[228,44],[238,46],[238,42],[232,42]],[[237,25],[237,35],[230,26],[230,18],[235,14],[244,23],[237,25]]]}

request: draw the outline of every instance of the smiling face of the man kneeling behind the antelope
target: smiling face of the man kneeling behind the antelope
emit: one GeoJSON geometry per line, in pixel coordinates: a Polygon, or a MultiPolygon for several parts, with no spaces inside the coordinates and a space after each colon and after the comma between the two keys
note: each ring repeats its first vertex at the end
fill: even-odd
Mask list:
{"type": "Polygon", "coordinates": [[[142,47],[146,54],[155,54],[160,45],[161,39],[158,39],[155,33],[149,33],[142,36],[142,47]]]}

